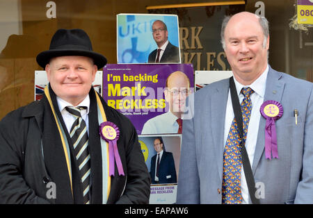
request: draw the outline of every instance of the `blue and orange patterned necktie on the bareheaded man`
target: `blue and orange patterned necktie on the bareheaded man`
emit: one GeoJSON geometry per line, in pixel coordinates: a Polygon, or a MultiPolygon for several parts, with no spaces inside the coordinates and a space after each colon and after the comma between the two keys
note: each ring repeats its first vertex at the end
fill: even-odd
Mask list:
{"type": "MultiPolygon", "coordinates": [[[[241,113],[243,119],[243,140],[245,144],[248,132],[248,125],[251,115],[250,94],[254,91],[250,87],[243,87],[241,94],[244,98],[241,103],[241,113]]],[[[222,203],[241,203],[241,139],[236,124],[236,119],[232,121],[230,132],[224,150],[223,184],[222,184],[222,203]]]]}

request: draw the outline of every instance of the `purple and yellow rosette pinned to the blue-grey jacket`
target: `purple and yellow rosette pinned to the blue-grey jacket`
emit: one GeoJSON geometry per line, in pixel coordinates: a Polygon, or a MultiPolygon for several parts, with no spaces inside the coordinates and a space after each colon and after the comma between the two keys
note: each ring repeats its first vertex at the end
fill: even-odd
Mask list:
{"type": "Polygon", "coordinates": [[[265,124],[265,158],[271,160],[278,158],[277,135],[275,121],[282,117],[284,109],[278,101],[264,101],[259,108],[262,116],[266,119],[265,124]]]}

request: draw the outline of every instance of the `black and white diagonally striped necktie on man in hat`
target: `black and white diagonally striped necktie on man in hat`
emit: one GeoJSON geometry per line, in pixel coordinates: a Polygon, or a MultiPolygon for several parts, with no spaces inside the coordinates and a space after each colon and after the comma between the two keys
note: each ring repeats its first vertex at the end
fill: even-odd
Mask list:
{"type": "Polygon", "coordinates": [[[73,142],[74,156],[79,166],[79,175],[83,185],[83,203],[89,202],[89,181],[90,181],[90,154],[88,151],[88,133],[85,121],[81,118],[83,107],[66,107],[66,110],[77,119],[70,130],[70,137],[73,142]]]}

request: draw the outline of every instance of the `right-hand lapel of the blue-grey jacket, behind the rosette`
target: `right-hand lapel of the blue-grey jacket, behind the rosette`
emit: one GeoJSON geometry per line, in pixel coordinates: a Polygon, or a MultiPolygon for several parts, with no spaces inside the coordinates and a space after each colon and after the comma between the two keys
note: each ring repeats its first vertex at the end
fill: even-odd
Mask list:
{"type": "MultiPolygon", "coordinates": [[[[281,102],[282,92],[284,91],[284,81],[280,80],[280,78],[282,78],[282,72],[277,72],[274,69],[272,69],[271,66],[268,66],[264,101],[274,100],[274,101],[281,102]]],[[[262,153],[264,152],[265,124],[266,124],[266,119],[264,119],[264,117],[262,117],[261,115],[260,120],[259,120],[259,133],[257,134],[257,145],[255,146],[255,156],[252,162],[253,174],[255,174],[257,165],[262,157],[262,153]]]]}

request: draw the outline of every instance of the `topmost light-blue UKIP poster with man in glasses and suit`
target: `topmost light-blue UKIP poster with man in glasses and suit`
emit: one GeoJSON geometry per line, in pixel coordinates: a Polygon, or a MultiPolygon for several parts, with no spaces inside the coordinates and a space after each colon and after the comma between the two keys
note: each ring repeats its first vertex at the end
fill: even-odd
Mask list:
{"type": "Polygon", "coordinates": [[[117,15],[118,63],[181,63],[177,15],[117,15]]]}

